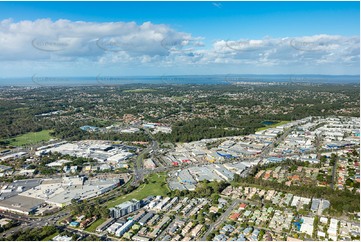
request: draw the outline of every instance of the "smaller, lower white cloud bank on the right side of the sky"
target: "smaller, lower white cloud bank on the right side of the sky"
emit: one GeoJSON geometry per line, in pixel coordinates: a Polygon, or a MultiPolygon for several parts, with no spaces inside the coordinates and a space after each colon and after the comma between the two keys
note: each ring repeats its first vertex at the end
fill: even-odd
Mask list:
{"type": "Polygon", "coordinates": [[[261,40],[220,40],[214,43],[216,53],[226,54],[234,62],[252,64],[321,64],[359,63],[358,37],[331,35],[261,40]],[[309,63],[305,63],[308,61],[309,63]]]}

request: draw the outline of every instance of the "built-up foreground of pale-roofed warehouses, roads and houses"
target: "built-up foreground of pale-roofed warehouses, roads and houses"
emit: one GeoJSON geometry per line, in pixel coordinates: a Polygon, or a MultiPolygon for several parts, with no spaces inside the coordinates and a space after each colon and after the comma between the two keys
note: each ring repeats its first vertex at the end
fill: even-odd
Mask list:
{"type": "Polygon", "coordinates": [[[359,117],[308,116],[248,135],[162,144],[157,126],[166,127],[117,128],[151,141],[53,139],[3,150],[3,237],[46,226],[60,241],[359,238],[360,212],[343,204],[360,193],[359,117]]]}

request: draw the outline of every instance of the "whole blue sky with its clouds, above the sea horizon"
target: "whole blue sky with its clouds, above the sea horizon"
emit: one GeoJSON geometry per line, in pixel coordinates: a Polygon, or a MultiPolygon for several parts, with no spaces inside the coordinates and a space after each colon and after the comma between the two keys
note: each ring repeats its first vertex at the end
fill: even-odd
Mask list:
{"type": "Polygon", "coordinates": [[[359,4],[0,2],[0,73],[358,75],[359,4]]]}

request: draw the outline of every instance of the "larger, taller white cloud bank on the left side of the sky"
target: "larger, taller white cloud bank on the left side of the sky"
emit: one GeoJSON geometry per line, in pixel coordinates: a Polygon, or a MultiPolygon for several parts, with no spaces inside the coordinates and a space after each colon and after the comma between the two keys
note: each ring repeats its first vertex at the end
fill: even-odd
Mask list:
{"type": "MultiPolygon", "coordinates": [[[[113,55],[164,56],[169,54],[167,47],[179,41],[192,40],[191,35],[176,32],[162,24],[145,22],[72,22],[69,20],[0,22],[1,60],[42,60],[68,57],[56,60],[96,58],[113,55]],[[167,40],[168,46],[162,46],[167,40]]],[[[181,43],[182,44],[182,43],[181,43]]],[[[183,44],[182,44],[183,45],[183,44]]]]}

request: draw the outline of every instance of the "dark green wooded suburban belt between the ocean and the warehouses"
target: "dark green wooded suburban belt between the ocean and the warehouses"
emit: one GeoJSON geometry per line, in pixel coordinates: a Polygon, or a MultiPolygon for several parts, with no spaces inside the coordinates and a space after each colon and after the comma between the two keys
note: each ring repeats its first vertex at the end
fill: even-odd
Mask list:
{"type": "MultiPolygon", "coordinates": [[[[264,120],[295,120],[310,115],[334,115],[340,109],[353,110],[339,114],[359,116],[359,85],[272,85],[245,87],[235,85],[121,85],[115,87],[57,87],[36,88],[16,93],[3,91],[0,100],[0,145],[17,135],[45,129],[55,130],[56,137],[69,140],[102,138],[110,140],[148,141],[144,134],[90,134],[79,129],[83,125],[102,127],[119,120],[124,114],[141,114],[147,121],[157,122],[178,114],[192,113],[197,103],[205,102],[214,110],[216,117],[177,122],[171,134],[159,134],[159,140],[189,142],[202,138],[218,138],[253,133],[263,127],[264,120]],[[125,90],[150,88],[155,92],[132,93],[125,90]],[[302,93],[300,93],[302,92],[302,93]],[[230,98],[226,94],[239,94],[230,98]],[[243,95],[244,94],[244,95],[243,95]],[[142,97],[146,96],[146,99],[142,97]],[[179,102],[148,102],[159,98],[180,97],[179,102]],[[6,100],[7,99],[7,100],[6,100]],[[182,110],[180,110],[182,103],[182,110]],[[255,105],[272,105],[277,111],[262,114],[242,113],[239,110],[255,105]],[[156,106],[155,106],[156,105],[156,106]],[[169,109],[171,106],[171,109],[169,109]],[[220,106],[229,106],[217,110],[220,106]],[[293,110],[285,107],[293,107],[293,110]],[[106,108],[104,108],[106,107],[106,108]],[[163,108],[164,107],[164,108],[163,108]],[[159,117],[152,117],[150,111],[165,110],[159,117]],[[38,114],[63,110],[66,116],[37,117],[38,114]],[[84,115],[85,114],[85,115],[84,115]],[[240,115],[242,115],[240,117],[240,115]],[[93,118],[94,117],[94,118],[93,118]],[[80,119],[82,121],[78,122],[80,119]],[[104,121],[107,120],[107,121],[104,121]]],[[[206,115],[206,114],[205,114],[206,115]]],[[[167,122],[174,122],[170,119],[167,122]]]]}

